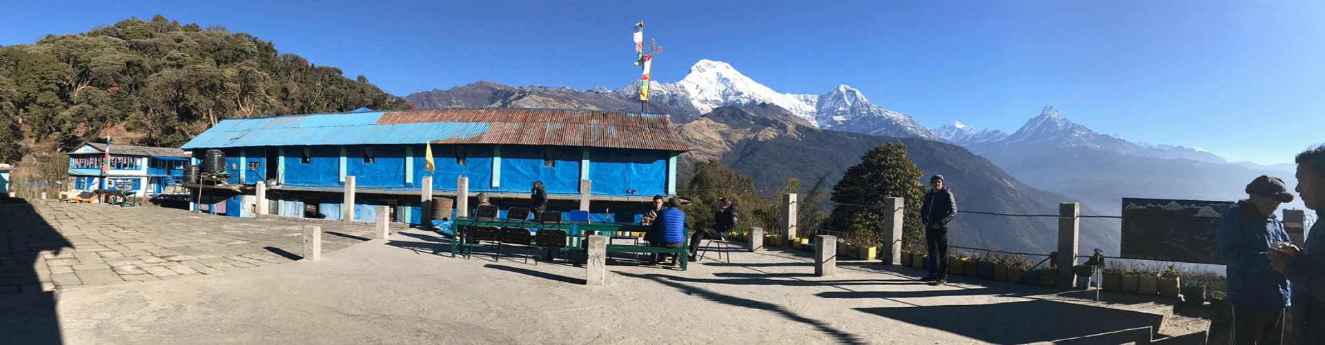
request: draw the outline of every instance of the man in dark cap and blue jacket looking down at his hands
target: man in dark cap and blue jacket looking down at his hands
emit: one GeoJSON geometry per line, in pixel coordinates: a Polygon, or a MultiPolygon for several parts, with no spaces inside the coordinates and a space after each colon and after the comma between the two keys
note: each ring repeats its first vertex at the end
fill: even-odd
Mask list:
{"type": "Polygon", "coordinates": [[[1228,269],[1234,344],[1281,344],[1288,280],[1269,265],[1269,248],[1289,242],[1275,219],[1280,203],[1293,200],[1283,179],[1261,175],[1247,184],[1247,199],[1224,210],[1215,231],[1219,259],[1228,269]]]}

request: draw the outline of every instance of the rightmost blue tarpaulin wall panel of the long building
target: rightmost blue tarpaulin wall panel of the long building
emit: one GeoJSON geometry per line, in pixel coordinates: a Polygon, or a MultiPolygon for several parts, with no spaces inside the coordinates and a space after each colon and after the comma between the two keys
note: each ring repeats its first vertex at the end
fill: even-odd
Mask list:
{"type": "Polygon", "coordinates": [[[590,192],[594,195],[666,194],[666,155],[661,151],[591,149],[590,192]]]}

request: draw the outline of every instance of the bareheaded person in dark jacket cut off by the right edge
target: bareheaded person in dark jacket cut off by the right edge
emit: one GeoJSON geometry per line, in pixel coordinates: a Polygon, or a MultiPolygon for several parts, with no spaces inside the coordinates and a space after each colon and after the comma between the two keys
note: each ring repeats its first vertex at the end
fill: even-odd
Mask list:
{"type": "MultiPolygon", "coordinates": [[[[1320,219],[1325,211],[1325,145],[1297,154],[1297,195],[1320,219]]],[[[1293,338],[1325,344],[1325,222],[1308,232],[1305,248],[1269,251],[1269,265],[1293,285],[1293,338]]]]}

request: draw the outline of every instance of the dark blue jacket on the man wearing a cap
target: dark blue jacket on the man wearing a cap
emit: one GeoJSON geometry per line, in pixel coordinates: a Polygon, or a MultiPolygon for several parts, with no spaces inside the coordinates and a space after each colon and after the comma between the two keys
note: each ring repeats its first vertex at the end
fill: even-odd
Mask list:
{"type": "Polygon", "coordinates": [[[1289,305],[1288,280],[1269,267],[1269,247],[1277,242],[1288,242],[1288,232],[1275,215],[1261,215],[1247,200],[1224,210],[1215,230],[1215,243],[1219,260],[1228,268],[1230,305],[1289,305]]]}

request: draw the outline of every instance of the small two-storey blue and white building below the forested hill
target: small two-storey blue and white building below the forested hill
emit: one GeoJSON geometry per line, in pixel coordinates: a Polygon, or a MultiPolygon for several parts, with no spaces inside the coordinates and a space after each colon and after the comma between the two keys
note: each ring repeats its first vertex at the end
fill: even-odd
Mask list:
{"type": "Polygon", "coordinates": [[[126,190],[138,195],[162,194],[178,183],[188,163],[188,151],[175,147],[110,146],[110,170],[102,171],[106,145],[90,142],[69,153],[73,190],[126,190]]]}

